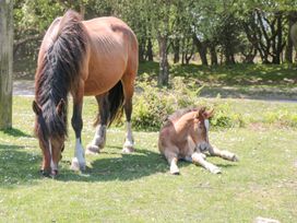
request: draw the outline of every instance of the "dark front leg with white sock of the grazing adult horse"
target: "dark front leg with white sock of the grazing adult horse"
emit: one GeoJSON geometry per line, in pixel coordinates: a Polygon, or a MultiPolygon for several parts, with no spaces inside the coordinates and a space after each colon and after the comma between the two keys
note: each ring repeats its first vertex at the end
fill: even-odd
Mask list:
{"type": "Polygon", "coordinates": [[[84,149],[82,146],[82,108],[83,108],[83,87],[73,95],[73,115],[71,119],[72,127],[75,131],[75,151],[74,157],[72,159],[71,168],[73,171],[85,169],[84,149]]]}

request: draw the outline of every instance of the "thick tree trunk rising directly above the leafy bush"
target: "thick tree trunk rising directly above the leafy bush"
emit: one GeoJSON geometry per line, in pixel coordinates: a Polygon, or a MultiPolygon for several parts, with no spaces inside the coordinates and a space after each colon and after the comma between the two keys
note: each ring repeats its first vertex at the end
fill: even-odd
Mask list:
{"type": "Polygon", "coordinates": [[[167,60],[167,36],[158,36],[158,48],[159,48],[159,73],[158,73],[158,85],[168,85],[169,69],[167,60]]]}

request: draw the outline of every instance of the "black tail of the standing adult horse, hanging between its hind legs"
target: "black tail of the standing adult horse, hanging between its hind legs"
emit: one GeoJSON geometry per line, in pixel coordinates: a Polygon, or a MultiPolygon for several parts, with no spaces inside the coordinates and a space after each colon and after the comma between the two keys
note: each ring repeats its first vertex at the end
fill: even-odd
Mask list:
{"type": "Polygon", "coordinates": [[[108,102],[110,105],[108,126],[110,126],[115,120],[119,120],[122,116],[124,95],[121,81],[109,90],[108,102]]]}

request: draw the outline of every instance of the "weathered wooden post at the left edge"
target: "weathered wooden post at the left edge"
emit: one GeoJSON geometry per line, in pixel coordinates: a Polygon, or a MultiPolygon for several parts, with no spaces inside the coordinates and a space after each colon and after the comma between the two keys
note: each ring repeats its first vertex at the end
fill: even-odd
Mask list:
{"type": "Polygon", "coordinates": [[[0,129],[12,127],[13,0],[0,0],[0,129]]]}

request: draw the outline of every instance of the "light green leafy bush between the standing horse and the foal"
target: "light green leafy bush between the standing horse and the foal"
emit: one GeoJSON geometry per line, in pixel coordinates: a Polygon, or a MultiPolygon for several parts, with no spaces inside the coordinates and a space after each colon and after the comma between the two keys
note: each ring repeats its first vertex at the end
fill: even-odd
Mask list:
{"type": "Polygon", "coordinates": [[[174,79],[171,89],[158,89],[154,80],[143,79],[134,97],[132,122],[136,129],[157,130],[175,110],[194,106],[199,91],[190,91],[182,79],[174,79]]]}

